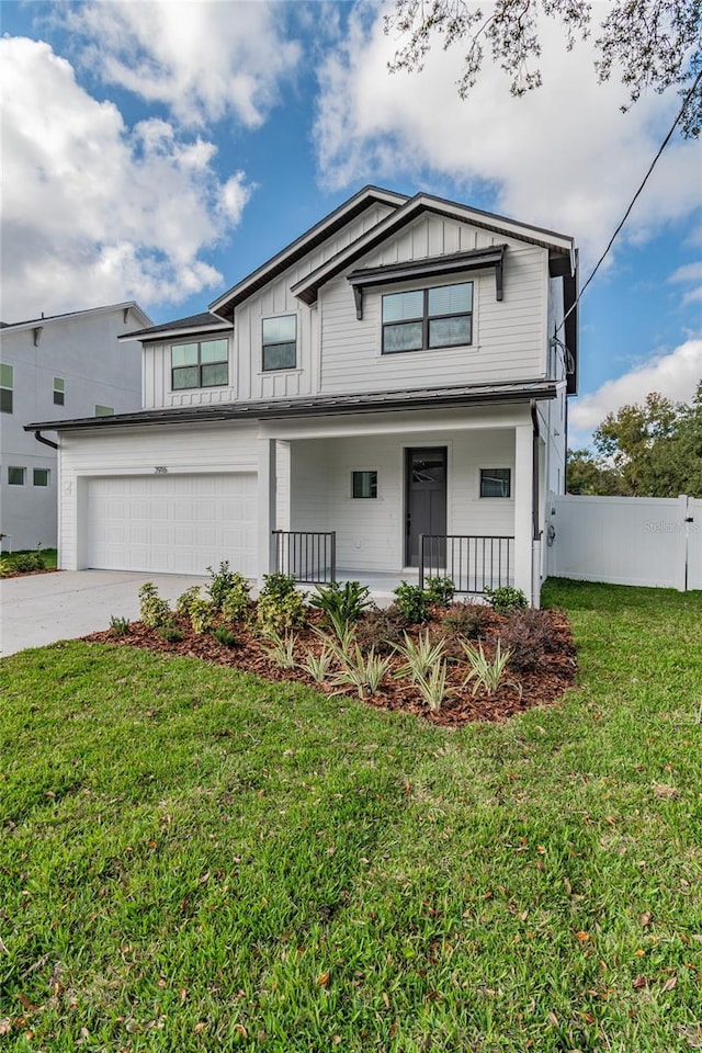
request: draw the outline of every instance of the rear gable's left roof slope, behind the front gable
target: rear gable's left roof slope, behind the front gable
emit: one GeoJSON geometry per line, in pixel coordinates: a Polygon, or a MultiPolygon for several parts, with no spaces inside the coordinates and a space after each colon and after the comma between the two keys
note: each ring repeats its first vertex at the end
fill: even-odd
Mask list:
{"type": "Polygon", "coordinates": [[[392,205],[398,208],[407,201],[406,194],[397,194],[393,190],[383,190],[381,186],[364,186],[362,190],[344,201],[343,204],[330,212],[328,216],[316,223],[314,227],[306,230],[294,241],[291,241],[284,249],[271,257],[265,263],[248,274],[247,278],[237,282],[231,288],[223,293],[212,304],[210,310],[229,320],[234,319],[234,309],[237,304],[250,296],[258,288],[265,285],[282,271],[287,270],[297,260],[306,256],[327,238],[344,227],[351,219],[365,212],[374,204],[392,205]]]}

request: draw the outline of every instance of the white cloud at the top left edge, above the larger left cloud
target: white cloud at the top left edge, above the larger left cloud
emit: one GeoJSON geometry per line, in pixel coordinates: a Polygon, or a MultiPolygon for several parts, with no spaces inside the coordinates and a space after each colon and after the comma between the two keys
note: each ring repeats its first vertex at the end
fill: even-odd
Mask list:
{"type": "Polygon", "coordinates": [[[258,127],[302,54],[286,38],[284,5],[256,0],[90,0],[58,12],[98,77],[185,125],[234,116],[258,127]]]}

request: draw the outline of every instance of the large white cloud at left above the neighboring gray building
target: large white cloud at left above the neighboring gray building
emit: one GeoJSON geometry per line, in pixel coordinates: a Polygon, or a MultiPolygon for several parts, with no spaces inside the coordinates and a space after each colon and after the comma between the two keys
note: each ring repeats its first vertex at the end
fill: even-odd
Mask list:
{"type": "Polygon", "coordinates": [[[202,253],[239,220],[241,172],[166,121],[125,127],[48,44],[0,41],[2,319],[136,297],[178,302],[222,281],[202,253]]]}

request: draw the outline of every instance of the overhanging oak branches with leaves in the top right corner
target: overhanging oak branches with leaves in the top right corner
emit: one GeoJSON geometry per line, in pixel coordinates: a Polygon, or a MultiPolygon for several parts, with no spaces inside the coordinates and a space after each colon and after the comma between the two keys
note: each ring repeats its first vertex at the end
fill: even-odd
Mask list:
{"type": "Polygon", "coordinates": [[[680,126],[688,138],[702,128],[702,0],[496,0],[486,7],[467,0],[395,0],[385,32],[398,39],[390,70],[419,71],[435,41],[444,50],[465,49],[458,94],[475,86],[486,55],[510,79],[513,95],[542,83],[539,59],[542,18],[563,26],[568,50],[595,34],[600,82],[619,77],[629,91],[629,110],[648,89],[661,93],[678,87],[692,93],[680,126]],[[602,10],[607,13],[599,19],[602,10]],[[597,16],[596,16],[597,15],[597,16]]]}

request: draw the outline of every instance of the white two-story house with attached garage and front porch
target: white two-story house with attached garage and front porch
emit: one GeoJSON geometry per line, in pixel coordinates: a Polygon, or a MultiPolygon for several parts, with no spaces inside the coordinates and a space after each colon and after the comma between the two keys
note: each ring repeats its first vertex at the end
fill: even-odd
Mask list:
{"type": "Polygon", "coordinates": [[[576,291],[569,237],[364,188],[207,313],[131,333],[139,412],[52,424],[60,566],[536,600],[576,291]]]}

